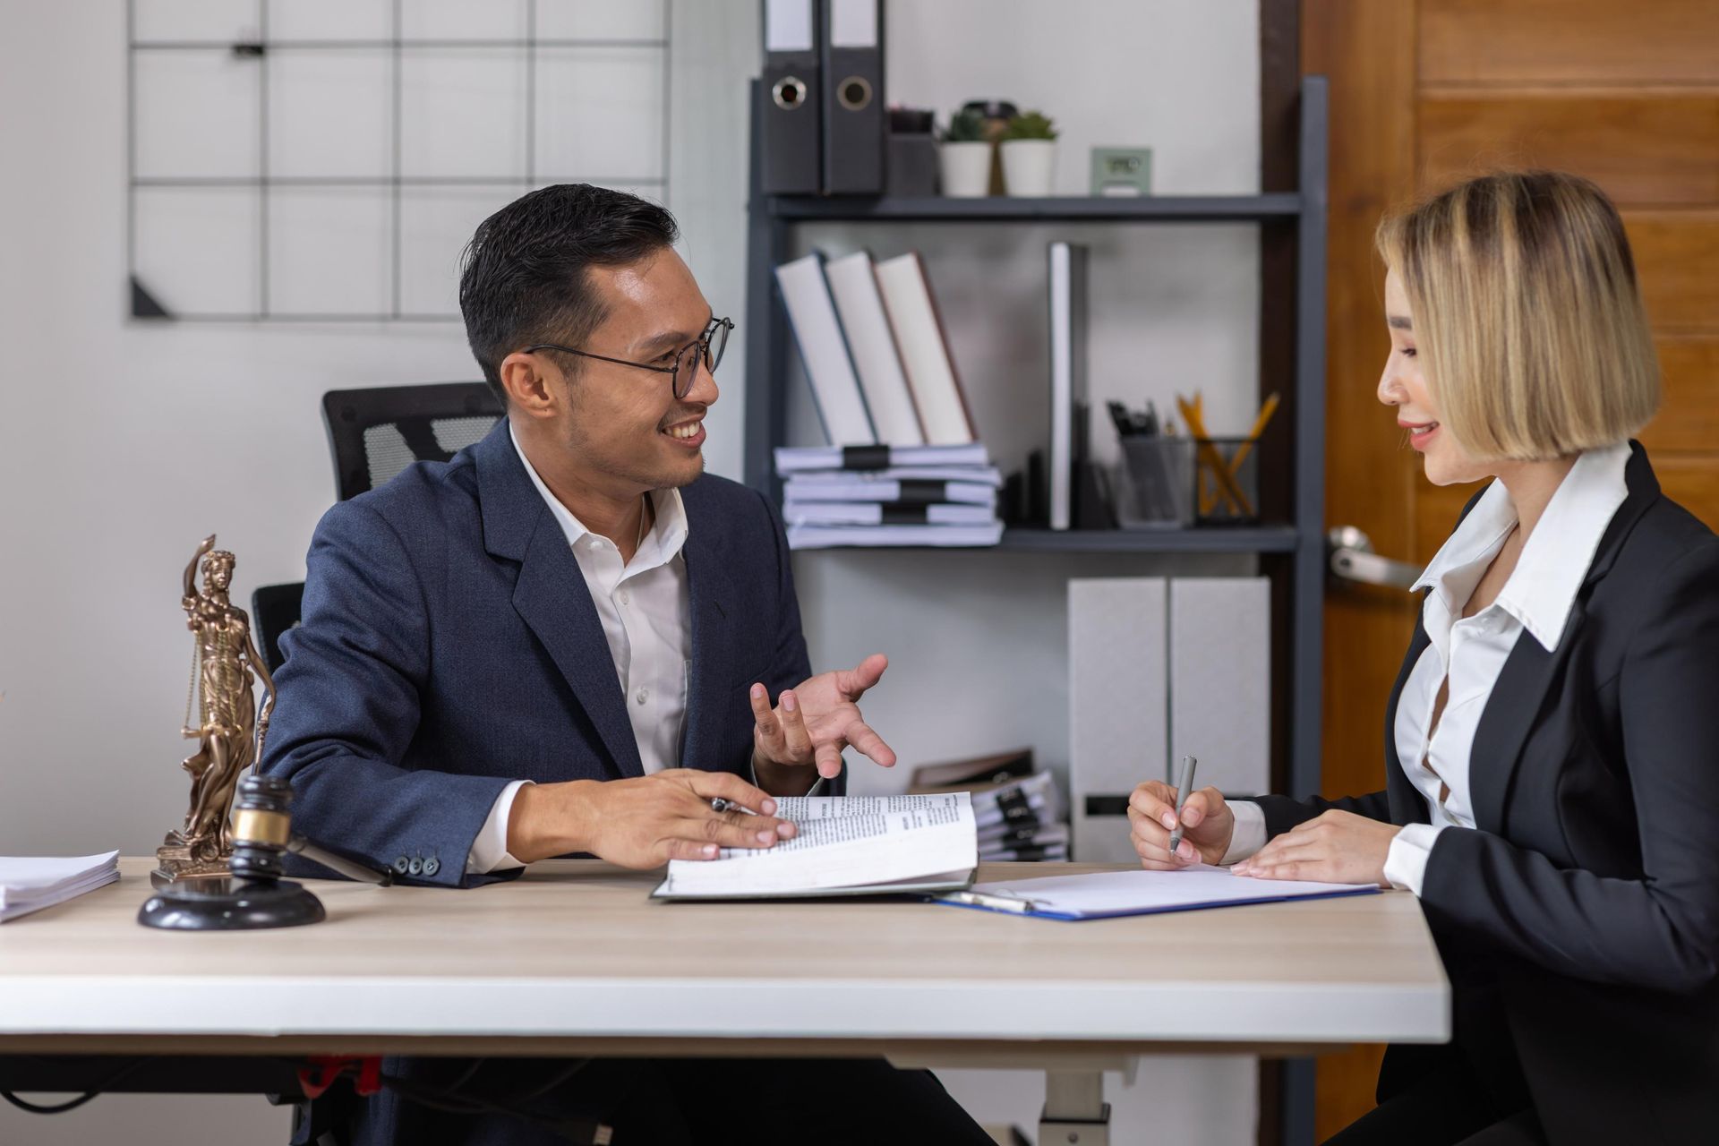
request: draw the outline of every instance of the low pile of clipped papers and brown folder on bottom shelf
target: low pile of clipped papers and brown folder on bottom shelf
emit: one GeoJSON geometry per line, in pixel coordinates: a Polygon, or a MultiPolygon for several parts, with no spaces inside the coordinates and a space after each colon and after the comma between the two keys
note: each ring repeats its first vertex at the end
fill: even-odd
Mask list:
{"type": "Polygon", "coordinates": [[[971,792],[980,863],[1069,857],[1061,792],[1030,747],[915,768],[908,792],[971,792]]]}

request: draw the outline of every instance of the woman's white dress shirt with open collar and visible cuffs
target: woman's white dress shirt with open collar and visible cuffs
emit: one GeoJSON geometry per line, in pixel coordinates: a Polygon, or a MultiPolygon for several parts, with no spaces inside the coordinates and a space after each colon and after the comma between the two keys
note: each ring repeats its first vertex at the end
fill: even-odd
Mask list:
{"type": "MultiPolygon", "coordinates": [[[[1430,823],[1411,823],[1391,840],[1386,880],[1392,887],[1420,895],[1439,833],[1475,826],[1470,753],[1492,687],[1523,634],[1547,651],[1557,649],[1606,526],[1630,493],[1628,462],[1628,443],[1578,457],[1528,534],[1497,600],[1473,617],[1463,617],[1463,608],[1516,526],[1516,507],[1504,483],[1487,488],[1415,582],[1416,591],[1432,589],[1422,607],[1428,643],[1398,698],[1392,735],[1430,823]],[[1444,711],[1435,715],[1446,684],[1444,711]]],[[[1233,808],[1236,833],[1226,864],[1265,845],[1260,806],[1236,801],[1233,808]]]]}

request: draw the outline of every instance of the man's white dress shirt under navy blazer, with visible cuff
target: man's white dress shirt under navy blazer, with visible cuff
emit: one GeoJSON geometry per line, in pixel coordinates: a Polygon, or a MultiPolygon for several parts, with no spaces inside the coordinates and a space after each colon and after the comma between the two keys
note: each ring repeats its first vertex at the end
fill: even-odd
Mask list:
{"type": "MultiPolygon", "coordinates": [[[[681,732],[686,722],[688,672],[693,663],[693,607],[686,579],[686,505],[679,490],[653,490],[655,510],[650,533],[639,538],[633,560],[622,564],[621,550],[609,538],[591,533],[574,517],[531,467],[519,436],[507,428],[531,485],[543,495],[560,531],[567,534],[572,558],[584,574],[584,588],[603,624],[615,679],[627,698],[633,739],[638,741],[645,775],[681,766],[681,732]]],[[[572,586],[569,586],[569,593],[572,586]]],[[[507,852],[507,818],[514,797],[529,780],[514,780],[495,799],[488,820],[473,840],[466,871],[483,875],[523,868],[507,852]]]]}

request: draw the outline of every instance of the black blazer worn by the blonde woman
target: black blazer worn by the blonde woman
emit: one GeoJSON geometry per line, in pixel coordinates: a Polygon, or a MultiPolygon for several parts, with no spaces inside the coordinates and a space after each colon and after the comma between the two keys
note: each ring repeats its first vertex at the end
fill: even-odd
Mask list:
{"type": "MultiPolygon", "coordinates": [[[[1482,713],[1477,830],[1441,832],[1427,861],[1454,1041],[1392,1046],[1379,1076],[1384,1101],[1466,1055],[1554,1144],[1719,1141],[1719,538],[1631,447],[1557,648],[1523,632],[1482,713]]],[[[1270,835],[1327,808],[1427,820],[1394,735],[1425,648],[1416,624],[1386,790],[1262,797],[1270,835]]]]}

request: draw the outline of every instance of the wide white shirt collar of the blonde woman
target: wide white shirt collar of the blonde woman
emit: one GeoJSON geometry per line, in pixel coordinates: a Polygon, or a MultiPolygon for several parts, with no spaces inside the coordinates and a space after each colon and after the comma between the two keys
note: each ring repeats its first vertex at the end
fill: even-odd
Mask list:
{"type": "MultiPolygon", "coordinates": [[[[1499,591],[1496,603],[1520,620],[1547,651],[1556,649],[1563,639],[1569,608],[1594,564],[1606,526],[1630,497],[1624,481],[1628,462],[1628,443],[1588,450],[1578,457],[1552,493],[1516,558],[1514,572],[1499,591]]],[[[1514,524],[1516,507],[1509,491],[1502,481],[1494,481],[1415,588],[1430,588],[1434,593],[1428,605],[1437,598],[1442,610],[1456,617],[1514,524]]]]}

